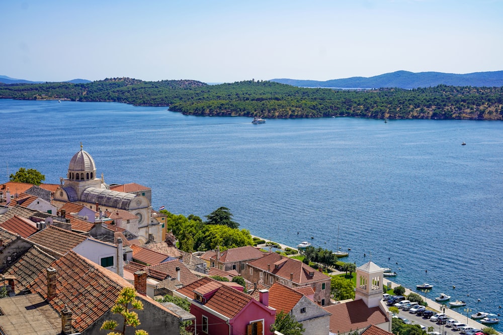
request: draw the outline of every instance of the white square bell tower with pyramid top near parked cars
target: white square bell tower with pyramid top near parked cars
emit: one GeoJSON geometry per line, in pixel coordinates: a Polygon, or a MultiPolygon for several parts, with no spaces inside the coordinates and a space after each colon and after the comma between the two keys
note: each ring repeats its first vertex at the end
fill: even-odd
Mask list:
{"type": "Polygon", "coordinates": [[[362,299],[367,307],[377,307],[382,299],[384,269],[369,261],[356,269],[355,300],[362,299]]]}

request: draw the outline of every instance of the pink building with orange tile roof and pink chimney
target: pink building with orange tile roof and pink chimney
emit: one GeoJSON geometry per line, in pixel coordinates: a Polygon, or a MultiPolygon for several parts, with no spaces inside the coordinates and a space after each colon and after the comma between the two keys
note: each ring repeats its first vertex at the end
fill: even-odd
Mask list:
{"type": "Polygon", "coordinates": [[[211,278],[202,278],[174,292],[191,302],[197,334],[267,334],[276,310],[269,307],[269,292],[260,293],[260,301],[211,278]]]}

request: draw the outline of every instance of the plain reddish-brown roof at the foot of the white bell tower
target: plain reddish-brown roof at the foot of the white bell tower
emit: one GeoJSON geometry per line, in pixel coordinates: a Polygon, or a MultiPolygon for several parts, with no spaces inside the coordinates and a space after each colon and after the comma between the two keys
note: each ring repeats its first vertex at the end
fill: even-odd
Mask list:
{"type": "Polygon", "coordinates": [[[330,331],[333,333],[363,329],[371,324],[388,321],[379,307],[369,308],[361,299],[323,307],[330,316],[330,331]]]}

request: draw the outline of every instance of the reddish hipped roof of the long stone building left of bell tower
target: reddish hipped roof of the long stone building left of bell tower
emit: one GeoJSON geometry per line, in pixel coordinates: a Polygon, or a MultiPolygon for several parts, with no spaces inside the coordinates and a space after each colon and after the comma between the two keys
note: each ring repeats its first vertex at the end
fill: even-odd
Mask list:
{"type": "Polygon", "coordinates": [[[271,265],[270,272],[286,280],[290,280],[290,274],[293,273],[293,282],[296,284],[305,284],[315,282],[318,280],[330,279],[330,277],[328,277],[327,275],[317,270],[314,270],[313,268],[302,263],[301,261],[288,257],[283,258],[282,257],[283,256],[278,255],[276,253],[272,253],[262,258],[251,261],[248,264],[250,266],[259,268],[263,271],[268,271],[267,265],[270,264],[271,265]],[[286,261],[283,262],[283,260],[286,261]],[[280,266],[279,268],[276,268],[274,264],[277,263],[278,261],[281,261],[278,263],[278,265],[280,266]],[[313,275],[310,276],[309,275],[310,273],[312,273],[313,275]]]}

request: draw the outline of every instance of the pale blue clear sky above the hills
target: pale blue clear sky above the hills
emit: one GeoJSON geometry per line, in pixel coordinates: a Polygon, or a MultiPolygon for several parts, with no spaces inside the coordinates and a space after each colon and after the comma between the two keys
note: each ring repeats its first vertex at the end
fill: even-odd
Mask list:
{"type": "Polygon", "coordinates": [[[503,0],[2,0],[0,75],[330,80],[503,70],[503,0]]]}

